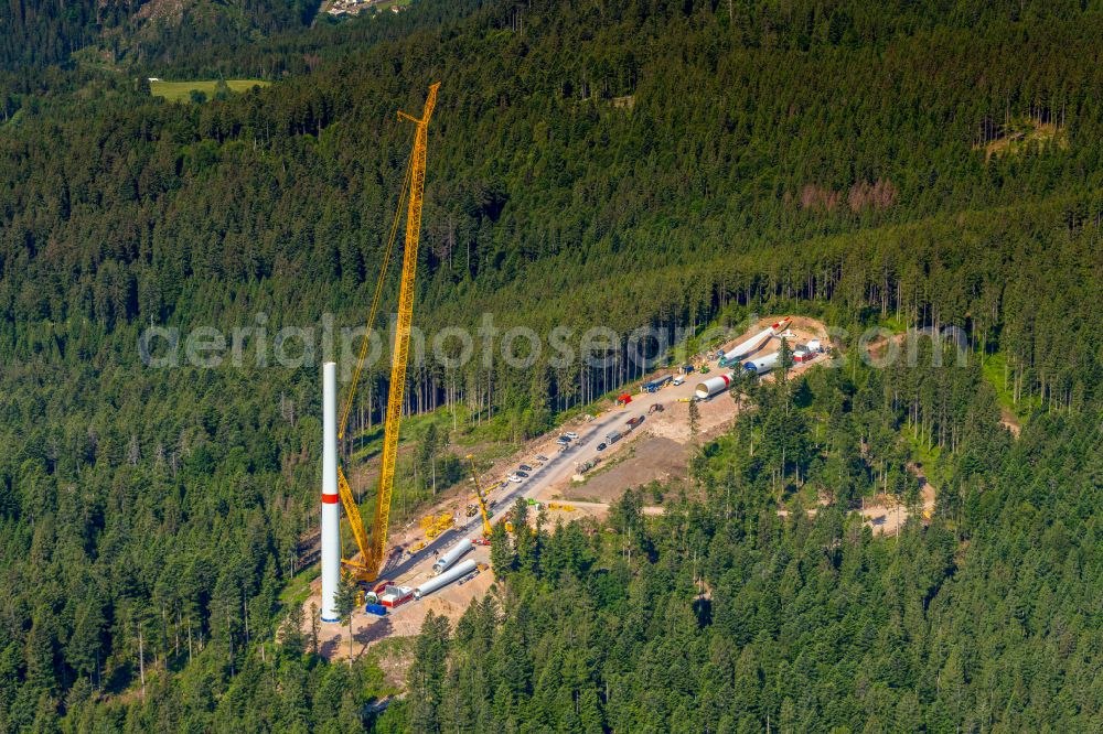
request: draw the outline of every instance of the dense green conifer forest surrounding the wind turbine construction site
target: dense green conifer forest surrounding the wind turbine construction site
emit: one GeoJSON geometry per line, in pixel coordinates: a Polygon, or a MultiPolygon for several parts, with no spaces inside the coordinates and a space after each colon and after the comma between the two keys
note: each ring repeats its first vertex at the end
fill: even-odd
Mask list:
{"type": "Polygon", "coordinates": [[[310,29],[271,4],[234,6],[244,35],[0,11],[0,732],[1103,727],[1099,3],[419,0],[310,29]],[[274,84],[169,104],[154,74],[274,84]],[[395,109],[436,80],[417,325],[620,336],[601,368],[430,350],[411,504],[437,454],[459,477],[448,441],[517,442],[641,377],[636,327],[799,313],[843,348],[741,385],[688,476],[607,523],[499,526],[494,592],[426,624],[381,712],[374,659],[276,641],[313,561],[321,355],[265,365],[254,331],[244,359],[153,368],[139,344],[360,324],[395,109]],[[875,369],[875,326],[954,326],[965,356],[875,369]],[[847,516],[914,508],[917,462],[929,522],[847,516]],[[805,488],[829,505],[779,517],[805,488]]]}

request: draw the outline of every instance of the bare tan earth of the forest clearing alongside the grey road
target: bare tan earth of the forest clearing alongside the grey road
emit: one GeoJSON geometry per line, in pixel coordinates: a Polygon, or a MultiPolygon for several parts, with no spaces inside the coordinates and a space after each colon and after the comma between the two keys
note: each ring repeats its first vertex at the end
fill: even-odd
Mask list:
{"type": "MultiPolygon", "coordinates": [[[[761,332],[781,320],[782,317],[779,315],[759,319],[749,324],[742,335],[731,335],[726,341],[727,346],[719,352],[722,353],[733,344],[746,341],[751,334],[761,332]]],[[[795,316],[788,319],[785,323],[788,323],[788,327],[784,330],[784,338],[785,343],[790,345],[789,348],[810,342],[818,342],[826,352],[829,352],[832,344],[828,331],[822,322],[795,316]]],[[[781,348],[781,332],[778,332],[777,336],[757,346],[751,357],[777,352],[781,348]]],[[[785,369],[786,378],[796,379],[804,371],[815,368],[826,359],[828,357],[821,356],[818,359],[789,365],[785,369]]],[[[709,373],[722,374],[726,369],[717,365],[715,354],[697,355],[689,361],[696,363],[698,366],[709,365],[709,373]]],[[[736,369],[741,368],[737,366],[736,369]]],[[[671,368],[654,371],[641,378],[638,385],[645,387],[655,378],[670,375],[671,371],[671,368]]],[[[655,392],[649,392],[639,387],[627,388],[634,393],[630,402],[620,404],[619,400],[614,402],[612,398],[606,398],[590,407],[592,412],[583,412],[580,417],[556,430],[529,441],[522,451],[494,462],[485,474],[486,477],[490,477],[488,479],[489,498],[494,504],[500,505],[502,509],[506,509],[510,506],[510,499],[520,494],[520,497],[529,503],[536,503],[537,511],[545,512],[547,521],[555,523],[559,520],[570,521],[583,517],[600,518],[608,512],[611,504],[618,501],[625,490],[632,487],[650,484],[682,485],[687,478],[690,452],[695,452],[695,446],[708,441],[709,436],[720,435],[739,412],[738,393],[721,392],[710,399],[698,400],[694,397],[694,391],[697,389],[697,382],[706,375],[698,377],[696,373],[693,373],[686,377],[692,379],[687,379],[679,386],[667,382],[664,388],[655,392]],[[613,442],[604,447],[606,444],[601,443],[604,427],[622,424],[633,415],[645,418],[641,428],[632,431],[628,439],[613,442]],[[545,462],[537,461],[533,458],[534,456],[564,455],[567,446],[557,446],[556,442],[558,441],[557,436],[563,435],[565,431],[575,431],[579,438],[576,442],[577,450],[575,445],[570,446],[575,451],[570,452],[569,458],[565,460],[559,471],[553,471],[548,474],[547,471],[537,469],[534,476],[526,479],[520,488],[515,488],[514,484],[505,481],[505,476],[511,472],[511,465],[531,462],[539,468],[545,462]],[[599,443],[601,447],[596,449],[596,444],[599,443]],[[583,461],[587,456],[590,457],[590,462],[583,461]],[[579,465],[595,462],[597,463],[593,464],[593,476],[579,483],[577,481],[579,465]],[[604,465],[608,465],[608,469],[603,468],[604,465]],[[570,504],[575,498],[585,501],[576,507],[570,504]],[[552,505],[555,507],[553,508],[552,505]],[[565,509],[565,507],[569,509],[565,509]]],[[[778,375],[771,373],[753,379],[771,384],[778,379],[778,375]]],[[[409,446],[406,447],[407,451],[409,449],[409,446]]],[[[453,446],[452,450],[459,451],[460,447],[453,446]]],[[[352,471],[354,476],[361,479],[366,478],[364,465],[354,466],[352,471]]],[[[397,573],[384,570],[388,583],[414,589],[418,583],[429,578],[428,566],[437,558],[436,548],[454,547],[456,543],[470,542],[467,531],[472,521],[464,520],[463,516],[464,503],[472,499],[472,497],[468,497],[469,494],[469,483],[461,482],[441,493],[436,504],[424,506],[418,510],[418,514],[427,517],[451,516],[458,518],[454,532],[448,531],[439,539],[433,540],[432,538],[422,539],[424,530],[414,522],[408,522],[394,530],[390,542],[404,562],[400,564],[401,571],[397,573]],[[409,560],[406,560],[407,557],[409,560]],[[421,560],[418,561],[418,558],[421,560]]],[[[662,507],[651,507],[644,511],[646,515],[657,515],[662,514],[662,507]]],[[[528,521],[535,526],[535,512],[529,516],[528,521]]],[[[395,559],[397,555],[392,555],[392,558],[395,559]]],[[[470,558],[480,563],[491,561],[490,553],[485,548],[474,548],[470,558]]],[[[393,566],[394,562],[390,565],[393,566]]],[[[382,617],[367,615],[362,609],[357,609],[351,616],[351,632],[346,626],[332,624],[323,624],[315,632],[322,593],[321,579],[315,579],[310,584],[310,595],[303,603],[302,632],[310,635],[317,634],[320,640],[319,649],[329,659],[346,657],[350,654],[357,657],[372,645],[387,637],[416,634],[429,611],[456,622],[472,602],[486,593],[493,581],[493,571],[485,568],[467,585],[446,586],[432,596],[403,604],[382,617]],[[351,652],[347,646],[349,635],[352,635],[354,640],[351,652]],[[342,639],[345,640],[345,645],[340,644],[342,639]]]]}

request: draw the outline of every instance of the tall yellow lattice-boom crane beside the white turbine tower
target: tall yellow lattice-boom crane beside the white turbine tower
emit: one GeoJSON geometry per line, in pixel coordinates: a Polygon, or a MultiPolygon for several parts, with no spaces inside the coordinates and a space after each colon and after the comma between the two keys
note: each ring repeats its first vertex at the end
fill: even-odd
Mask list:
{"type": "MultiPolygon", "coordinates": [[[[395,237],[398,233],[398,223],[401,215],[401,207],[408,202],[406,213],[406,250],[403,255],[401,284],[398,292],[398,319],[395,328],[394,359],[390,364],[390,387],[387,393],[387,412],[384,419],[383,436],[383,466],[379,471],[379,490],[375,498],[375,515],[372,518],[372,535],[368,536],[364,521],[361,519],[360,508],[353,497],[352,488],[345,478],[344,469],[338,465],[338,489],[341,495],[341,505],[349,517],[349,525],[352,527],[353,537],[356,539],[356,548],[360,551],[357,559],[341,559],[342,564],[353,574],[353,576],[365,584],[375,583],[383,571],[386,561],[387,549],[387,523],[390,519],[390,495],[394,490],[395,464],[398,457],[398,427],[401,421],[403,399],[406,395],[406,363],[409,354],[410,322],[414,315],[414,278],[417,273],[417,249],[418,239],[421,233],[421,198],[425,192],[425,160],[426,143],[428,139],[429,118],[437,106],[437,89],[440,83],[429,87],[429,94],[421,110],[421,117],[407,115],[398,111],[398,118],[415,125],[414,147],[410,151],[409,162],[406,166],[406,176],[403,180],[403,192],[398,197],[398,211],[395,212],[394,224],[390,227],[390,236],[384,250],[383,262],[379,268],[379,279],[375,284],[375,295],[372,299],[372,309],[367,316],[367,330],[371,332],[375,324],[375,316],[379,307],[379,299],[386,283],[387,263],[390,260],[390,252],[394,249],[395,237]]],[[[345,397],[338,421],[338,441],[344,439],[345,429],[349,425],[349,415],[352,413],[353,402],[356,397],[356,387],[364,370],[364,363],[367,359],[368,338],[365,336],[360,348],[360,356],[356,360],[356,368],[349,385],[349,395],[345,397]]]]}

